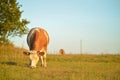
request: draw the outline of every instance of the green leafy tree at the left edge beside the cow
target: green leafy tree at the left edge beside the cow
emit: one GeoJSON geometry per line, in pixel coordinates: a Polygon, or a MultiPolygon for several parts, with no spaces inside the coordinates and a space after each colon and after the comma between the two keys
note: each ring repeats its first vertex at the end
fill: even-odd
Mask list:
{"type": "Polygon", "coordinates": [[[9,43],[9,36],[22,36],[28,32],[29,21],[21,19],[20,7],[16,0],[0,0],[0,44],[9,43]]]}

